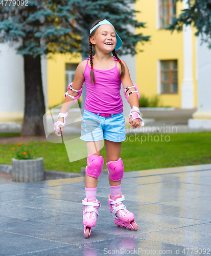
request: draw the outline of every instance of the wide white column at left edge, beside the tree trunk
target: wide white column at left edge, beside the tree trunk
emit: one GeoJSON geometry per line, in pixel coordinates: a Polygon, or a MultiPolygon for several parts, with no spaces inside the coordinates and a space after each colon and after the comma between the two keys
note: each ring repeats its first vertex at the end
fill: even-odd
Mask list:
{"type": "Polygon", "coordinates": [[[24,58],[15,46],[0,44],[1,122],[21,121],[24,116],[24,58]]]}

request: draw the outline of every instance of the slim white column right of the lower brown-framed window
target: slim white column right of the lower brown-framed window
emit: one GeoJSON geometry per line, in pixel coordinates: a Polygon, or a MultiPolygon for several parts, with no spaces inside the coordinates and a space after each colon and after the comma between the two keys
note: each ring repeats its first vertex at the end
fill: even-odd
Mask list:
{"type": "MultiPolygon", "coordinates": [[[[183,8],[189,8],[186,2],[183,2],[183,8]]],[[[192,28],[183,25],[183,57],[184,57],[184,78],[181,87],[181,108],[194,108],[194,82],[192,72],[192,28]]]]}

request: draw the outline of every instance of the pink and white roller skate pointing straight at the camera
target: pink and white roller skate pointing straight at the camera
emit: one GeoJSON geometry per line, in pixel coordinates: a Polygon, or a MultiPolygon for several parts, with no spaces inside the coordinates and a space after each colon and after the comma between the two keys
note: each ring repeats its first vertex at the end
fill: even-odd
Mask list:
{"type": "Polygon", "coordinates": [[[84,224],[84,237],[88,238],[91,233],[91,228],[96,225],[98,218],[98,208],[101,203],[96,199],[94,202],[88,202],[87,198],[82,200],[83,206],[83,224],[84,224]]]}

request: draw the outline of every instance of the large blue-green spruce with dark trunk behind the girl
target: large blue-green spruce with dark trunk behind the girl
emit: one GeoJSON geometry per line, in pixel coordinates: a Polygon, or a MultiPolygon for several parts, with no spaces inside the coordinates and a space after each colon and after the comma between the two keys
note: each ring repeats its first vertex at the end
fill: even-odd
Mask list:
{"type": "Polygon", "coordinates": [[[18,43],[24,57],[25,115],[21,135],[44,135],[45,113],[41,80],[41,55],[49,53],[88,54],[88,35],[93,22],[106,18],[114,24],[124,44],[118,54],[136,53],[138,41],[149,36],[134,34],[131,28],[144,28],[137,22],[136,0],[21,0],[0,1],[0,42],[18,43]],[[27,5],[26,5],[27,4],[27,5]],[[3,6],[4,5],[4,6],[3,6]]]}

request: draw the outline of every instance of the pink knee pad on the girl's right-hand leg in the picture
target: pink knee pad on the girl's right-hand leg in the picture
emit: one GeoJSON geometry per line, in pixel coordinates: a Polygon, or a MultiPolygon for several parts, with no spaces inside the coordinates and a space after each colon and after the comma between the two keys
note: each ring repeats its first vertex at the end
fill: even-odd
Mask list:
{"type": "Polygon", "coordinates": [[[108,162],[107,167],[108,167],[108,170],[109,170],[108,177],[112,181],[122,180],[122,178],[124,176],[124,173],[123,173],[124,172],[124,165],[123,165],[122,158],[120,158],[117,161],[108,162]]]}

